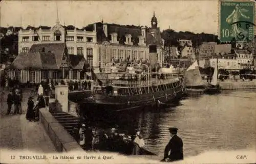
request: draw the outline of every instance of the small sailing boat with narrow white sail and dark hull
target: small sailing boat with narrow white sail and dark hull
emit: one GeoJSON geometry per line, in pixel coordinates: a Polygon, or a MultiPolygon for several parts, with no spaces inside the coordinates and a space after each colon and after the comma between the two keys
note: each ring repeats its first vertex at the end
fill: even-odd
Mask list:
{"type": "Polygon", "coordinates": [[[214,94],[221,92],[221,87],[218,84],[218,59],[217,64],[214,68],[214,75],[212,75],[212,80],[210,82],[210,85],[205,89],[205,93],[214,94]]]}

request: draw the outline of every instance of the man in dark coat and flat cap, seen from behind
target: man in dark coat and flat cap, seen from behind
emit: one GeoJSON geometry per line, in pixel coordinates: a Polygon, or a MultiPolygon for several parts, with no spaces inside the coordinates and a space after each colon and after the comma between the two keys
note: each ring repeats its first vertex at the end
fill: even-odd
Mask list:
{"type": "Polygon", "coordinates": [[[169,132],[172,136],[169,143],[164,149],[164,159],[162,161],[175,161],[183,159],[183,142],[182,139],[177,136],[178,128],[171,127],[169,132]],[[168,155],[170,151],[170,154],[168,155]]]}

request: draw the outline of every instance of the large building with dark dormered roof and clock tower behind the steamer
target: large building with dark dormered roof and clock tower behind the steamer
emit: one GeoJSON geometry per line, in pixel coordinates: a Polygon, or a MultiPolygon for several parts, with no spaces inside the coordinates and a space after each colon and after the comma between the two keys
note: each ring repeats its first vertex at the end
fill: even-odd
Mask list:
{"type": "MultiPolygon", "coordinates": [[[[97,64],[104,69],[108,63],[130,61],[146,63],[150,61],[150,45],[156,45],[157,61],[163,63],[163,39],[158,28],[155,13],[151,28],[135,25],[119,25],[98,22],[96,24],[98,59],[97,64]]],[[[94,24],[88,25],[93,28],[94,24]]]]}

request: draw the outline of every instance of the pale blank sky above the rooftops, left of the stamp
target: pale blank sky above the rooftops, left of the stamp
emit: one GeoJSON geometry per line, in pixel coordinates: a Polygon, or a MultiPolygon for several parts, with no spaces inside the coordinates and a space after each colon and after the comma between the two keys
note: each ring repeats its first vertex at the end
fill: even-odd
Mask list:
{"type": "Polygon", "coordinates": [[[151,26],[160,30],[218,33],[218,0],[213,1],[1,1],[0,26],[56,24],[78,28],[94,22],[151,26]],[[57,5],[56,5],[57,4],[57,5]]]}

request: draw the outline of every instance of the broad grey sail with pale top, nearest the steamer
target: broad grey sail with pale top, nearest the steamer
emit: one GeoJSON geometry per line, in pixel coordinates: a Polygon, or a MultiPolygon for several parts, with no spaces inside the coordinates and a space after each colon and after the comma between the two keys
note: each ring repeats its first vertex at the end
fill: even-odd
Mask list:
{"type": "Polygon", "coordinates": [[[185,71],[185,85],[186,87],[196,87],[205,85],[204,81],[202,80],[197,61],[195,61],[185,71]]]}

